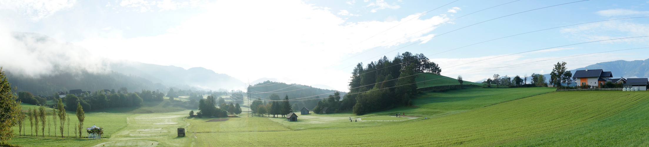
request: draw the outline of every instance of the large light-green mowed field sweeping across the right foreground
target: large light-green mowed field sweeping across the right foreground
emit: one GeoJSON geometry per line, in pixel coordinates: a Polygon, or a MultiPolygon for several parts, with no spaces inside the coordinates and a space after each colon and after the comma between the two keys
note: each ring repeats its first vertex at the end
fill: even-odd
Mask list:
{"type": "MultiPolygon", "coordinates": [[[[534,139],[537,137],[557,140],[553,134],[559,134],[561,137],[565,133],[572,132],[567,130],[577,129],[574,130],[576,132],[572,132],[572,135],[578,135],[587,132],[580,132],[578,128],[595,129],[599,127],[589,126],[589,124],[602,125],[600,122],[618,121],[618,119],[608,119],[618,115],[626,116],[624,115],[626,111],[638,113],[637,111],[643,110],[640,108],[649,105],[648,98],[649,93],[646,91],[561,91],[487,107],[478,106],[477,109],[444,117],[417,119],[386,126],[297,131],[224,129],[223,131],[227,133],[195,133],[195,135],[199,146],[217,146],[215,144],[218,146],[286,146],[287,141],[291,142],[291,146],[494,146],[507,143],[512,143],[513,146],[518,144],[533,146],[534,139]],[[526,140],[531,140],[531,144],[519,142],[526,140]]],[[[636,116],[629,115],[629,117],[636,116]]],[[[606,124],[610,126],[616,123],[606,122],[606,124]]],[[[624,126],[617,125],[617,127],[624,126]]],[[[611,130],[599,132],[606,131],[611,130]]],[[[611,134],[602,134],[599,138],[604,140],[596,142],[616,142],[607,139],[624,141],[626,137],[634,137],[631,135],[607,138],[609,135],[611,134]]],[[[637,140],[640,139],[642,138],[637,140]]],[[[550,142],[550,145],[554,144],[550,142]]]]}

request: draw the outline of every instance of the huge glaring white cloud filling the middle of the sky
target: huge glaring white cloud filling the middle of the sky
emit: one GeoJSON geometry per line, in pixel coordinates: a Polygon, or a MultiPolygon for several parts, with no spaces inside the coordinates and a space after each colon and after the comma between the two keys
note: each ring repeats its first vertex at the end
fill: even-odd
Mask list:
{"type": "Polygon", "coordinates": [[[342,24],[335,12],[302,1],[217,1],[206,10],[159,36],[88,38],[75,44],[109,58],[206,67],[242,81],[268,77],[347,89],[347,71],[322,68],[387,41],[402,38],[384,47],[426,40],[434,28],[403,37],[448,20],[413,14],[397,21],[342,24]]]}

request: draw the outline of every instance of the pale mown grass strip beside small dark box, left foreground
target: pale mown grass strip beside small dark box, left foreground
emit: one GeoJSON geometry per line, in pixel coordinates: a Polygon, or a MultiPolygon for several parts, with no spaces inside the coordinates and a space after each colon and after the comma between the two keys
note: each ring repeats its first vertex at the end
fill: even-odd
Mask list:
{"type": "Polygon", "coordinates": [[[177,137],[177,128],[187,128],[183,120],[189,111],[135,114],[127,127],[95,146],[193,146],[190,137],[177,137]]]}

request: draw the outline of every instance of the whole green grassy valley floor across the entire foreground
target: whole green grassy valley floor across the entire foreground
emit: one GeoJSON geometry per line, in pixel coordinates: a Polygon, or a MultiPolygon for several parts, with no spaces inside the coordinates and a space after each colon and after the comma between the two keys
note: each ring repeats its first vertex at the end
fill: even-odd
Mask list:
{"type": "MultiPolygon", "coordinates": [[[[187,118],[160,102],[86,113],[104,139],[16,136],[20,146],[646,146],[648,91],[557,91],[547,87],[422,93],[413,107],[284,117],[187,118]],[[154,113],[135,113],[145,111],[154,113]],[[161,111],[163,113],[158,113],[161,111]],[[397,118],[390,115],[406,113],[397,118]],[[424,119],[427,117],[428,119],[424,119]],[[349,122],[350,120],[359,122],[349,122]],[[176,137],[176,128],[187,137],[176,137]]],[[[165,100],[165,102],[173,102],[165,100]]],[[[32,106],[23,104],[23,109],[32,106]]],[[[180,108],[178,108],[180,109],[180,108]]],[[[196,111],[194,109],[194,111],[196,111]]],[[[68,111],[71,122],[77,122],[68,111]]],[[[29,124],[29,122],[27,123],[29,124]]],[[[18,127],[14,128],[18,134],[18,127]]],[[[28,127],[28,132],[29,130],[28,127]]],[[[47,136],[47,132],[45,133],[47,136]]],[[[66,135],[67,136],[67,135],[66,135]]]]}

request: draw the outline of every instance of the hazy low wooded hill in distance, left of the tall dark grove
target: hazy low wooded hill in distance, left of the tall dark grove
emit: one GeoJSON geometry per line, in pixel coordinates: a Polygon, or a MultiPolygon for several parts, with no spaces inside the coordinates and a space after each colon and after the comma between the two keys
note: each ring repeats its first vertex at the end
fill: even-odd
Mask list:
{"type": "MultiPolygon", "coordinates": [[[[322,98],[327,97],[328,95],[334,95],[334,92],[336,92],[335,90],[319,89],[315,87],[310,87],[308,85],[285,84],[285,83],[271,82],[269,80],[258,84],[254,84],[254,87],[251,88],[252,88],[251,89],[252,98],[257,99],[255,97],[257,96],[264,99],[270,99],[272,94],[276,94],[279,95],[280,99],[284,100],[284,97],[288,95],[289,99],[302,98],[299,99],[300,101],[292,101],[291,106],[293,104],[297,104],[297,107],[299,108],[307,107],[309,109],[313,109],[313,107],[317,106],[318,101],[322,100],[322,98]],[[314,96],[314,95],[321,95],[321,96],[314,96]],[[313,96],[313,97],[304,98],[307,96],[313,96]],[[309,100],[314,98],[320,98],[320,99],[309,100]]],[[[347,93],[340,92],[341,96],[346,94],[347,93]]]]}

